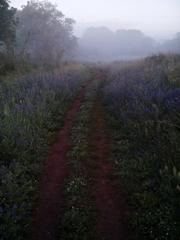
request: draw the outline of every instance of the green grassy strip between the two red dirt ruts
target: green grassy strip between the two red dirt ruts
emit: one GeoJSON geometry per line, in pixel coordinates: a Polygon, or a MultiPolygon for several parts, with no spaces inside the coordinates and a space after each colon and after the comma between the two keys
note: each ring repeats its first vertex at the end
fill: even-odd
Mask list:
{"type": "Polygon", "coordinates": [[[71,177],[65,186],[65,210],[61,219],[61,239],[93,239],[95,208],[88,191],[91,179],[85,169],[89,154],[90,114],[97,95],[98,82],[89,87],[75,126],[72,130],[72,151],[69,156],[71,177]]]}

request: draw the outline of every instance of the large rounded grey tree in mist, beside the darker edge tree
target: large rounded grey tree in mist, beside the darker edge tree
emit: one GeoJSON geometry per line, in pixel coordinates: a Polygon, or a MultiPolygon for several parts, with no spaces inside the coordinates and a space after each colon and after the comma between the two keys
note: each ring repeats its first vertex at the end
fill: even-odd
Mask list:
{"type": "Polygon", "coordinates": [[[30,1],[17,13],[18,53],[31,61],[59,64],[76,46],[74,21],[48,1],[30,1]]]}

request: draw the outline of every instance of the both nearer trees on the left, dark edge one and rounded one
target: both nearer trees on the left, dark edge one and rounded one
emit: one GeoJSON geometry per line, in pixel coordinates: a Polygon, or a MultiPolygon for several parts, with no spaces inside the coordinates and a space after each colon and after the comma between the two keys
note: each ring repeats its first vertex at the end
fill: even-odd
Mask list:
{"type": "Polygon", "coordinates": [[[59,65],[77,47],[73,24],[73,19],[49,1],[30,0],[17,10],[8,0],[0,0],[0,67],[7,57],[59,65]]]}

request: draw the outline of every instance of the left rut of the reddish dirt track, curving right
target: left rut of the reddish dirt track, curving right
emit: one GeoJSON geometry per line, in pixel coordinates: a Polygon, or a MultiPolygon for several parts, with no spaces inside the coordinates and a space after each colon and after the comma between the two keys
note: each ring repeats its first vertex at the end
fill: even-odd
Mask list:
{"type": "Polygon", "coordinates": [[[82,87],[65,119],[65,124],[58,135],[47,159],[40,190],[39,208],[34,217],[34,240],[55,240],[58,216],[63,206],[62,188],[69,175],[67,153],[70,149],[70,131],[84,99],[86,86],[82,87]]]}

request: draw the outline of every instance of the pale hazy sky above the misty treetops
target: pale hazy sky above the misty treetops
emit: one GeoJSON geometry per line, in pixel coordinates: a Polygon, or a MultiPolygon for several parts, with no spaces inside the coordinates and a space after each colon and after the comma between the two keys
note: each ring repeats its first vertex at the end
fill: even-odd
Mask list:
{"type": "MultiPolygon", "coordinates": [[[[87,26],[136,28],[157,38],[180,31],[180,0],[51,0],[76,20],[76,32],[87,26]]],[[[17,8],[27,0],[11,0],[17,8]]]]}

